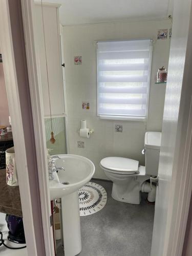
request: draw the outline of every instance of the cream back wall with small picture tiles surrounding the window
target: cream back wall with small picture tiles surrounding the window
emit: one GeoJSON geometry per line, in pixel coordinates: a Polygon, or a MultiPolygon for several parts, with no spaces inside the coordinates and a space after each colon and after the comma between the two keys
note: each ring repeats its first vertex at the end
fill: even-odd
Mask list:
{"type": "Polygon", "coordinates": [[[157,40],[158,29],[170,28],[169,20],[132,23],[107,23],[63,27],[66,63],[67,108],[69,116],[70,154],[88,157],[96,167],[95,178],[106,179],[99,162],[107,156],[129,157],[144,165],[141,151],[145,131],[161,131],[165,85],[155,84],[159,67],[168,66],[169,39],[157,40]],[[153,38],[155,40],[150,101],[147,123],[139,121],[101,120],[97,117],[96,40],[153,38]],[[82,65],[74,65],[74,56],[82,56],[82,65]],[[90,110],[82,110],[82,101],[90,102],[90,110]],[[94,129],[90,139],[79,137],[81,119],[87,119],[94,129]],[[115,132],[115,124],[123,125],[123,132],[115,132]],[[84,148],[77,141],[84,141],[84,148]]]}

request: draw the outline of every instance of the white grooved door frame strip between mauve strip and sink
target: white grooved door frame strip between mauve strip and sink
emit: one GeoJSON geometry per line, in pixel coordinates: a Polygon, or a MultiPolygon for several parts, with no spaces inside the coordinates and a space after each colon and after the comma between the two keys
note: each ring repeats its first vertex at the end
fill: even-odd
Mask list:
{"type": "MultiPolygon", "coordinates": [[[[54,253],[53,232],[50,226],[51,205],[49,192],[49,176],[47,164],[47,147],[45,135],[45,121],[43,111],[42,91],[39,87],[40,75],[37,70],[35,40],[34,40],[34,2],[33,0],[21,0],[24,24],[24,36],[26,40],[26,55],[28,65],[29,86],[33,112],[33,125],[35,132],[35,144],[37,152],[39,191],[41,199],[42,222],[44,224],[44,240],[46,255],[54,253]]],[[[40,69],[39,69],[40,70],[40,69]]],[[[54,255],[54,254],[53,254],[54,255]]]]}

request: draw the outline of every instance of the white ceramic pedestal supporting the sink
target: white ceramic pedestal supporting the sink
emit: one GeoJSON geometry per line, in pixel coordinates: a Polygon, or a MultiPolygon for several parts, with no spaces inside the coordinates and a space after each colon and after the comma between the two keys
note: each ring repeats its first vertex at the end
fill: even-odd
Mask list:
{"type": "Polygon", "coordinates": [[[81,251],[78,191],[62,197],[61,207],[65,256],[75,256],[81,251]]]}

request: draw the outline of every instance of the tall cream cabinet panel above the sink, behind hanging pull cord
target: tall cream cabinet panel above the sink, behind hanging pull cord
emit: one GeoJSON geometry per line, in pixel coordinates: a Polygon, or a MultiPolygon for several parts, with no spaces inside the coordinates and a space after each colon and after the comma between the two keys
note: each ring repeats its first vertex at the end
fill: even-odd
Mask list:
{"type": "Polygon", "coordinates": [[[40,66],[40,79],[42,86],[42,96],[44,103],[44,114],[50,116],[49,90],[51,112],[53,116],[60,116],[65,113],[60,34],[58,22],[58,8],[54,6],[35,6],[36,15],[36,40],[38,61],[40,66]],[[44,29],[42,25],[42,11],[44,17],[44,29]],[[46,67],[47,55],[47,67],[46,67]],[[48,70],[48,72],[47,72],[48,70]],[[48,90],[49,81],[49,90],[48,90]]]}

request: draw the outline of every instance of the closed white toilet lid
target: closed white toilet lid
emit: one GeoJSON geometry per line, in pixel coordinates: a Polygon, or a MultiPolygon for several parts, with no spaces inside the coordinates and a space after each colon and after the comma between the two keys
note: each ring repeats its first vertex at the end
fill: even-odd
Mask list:
{"type": "Polygon", "coordinates": [[[138,173],[139,162],[125,157],[105,157],[100,162],[106,169],[119,172],[138,173]]]}

